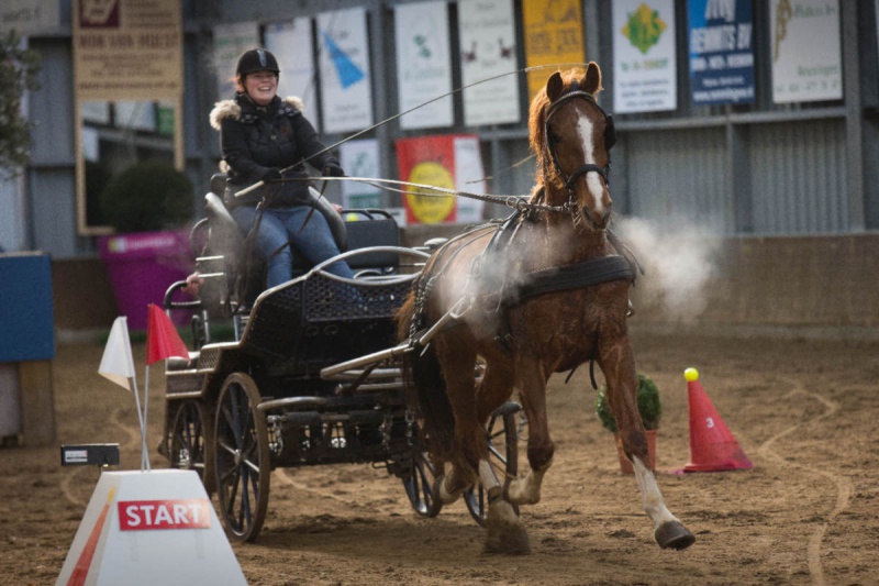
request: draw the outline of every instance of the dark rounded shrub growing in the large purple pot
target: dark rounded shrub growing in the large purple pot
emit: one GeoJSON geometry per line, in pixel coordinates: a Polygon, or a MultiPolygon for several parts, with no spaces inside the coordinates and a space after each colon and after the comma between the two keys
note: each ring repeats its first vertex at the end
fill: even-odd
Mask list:
{"type": "Polygon", "coordinates": [[[181,228],[196,212],[192,183],[162,161],[135,163],[112,177],[101,191],[100,207],[116,232],[181,228]]]}

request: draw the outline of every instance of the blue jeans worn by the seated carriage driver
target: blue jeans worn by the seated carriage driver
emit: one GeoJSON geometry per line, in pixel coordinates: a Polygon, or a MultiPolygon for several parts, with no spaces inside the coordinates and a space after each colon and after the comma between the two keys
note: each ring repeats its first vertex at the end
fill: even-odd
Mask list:
{"type": "MultiPolygon", "coordinates": [[[[308,206],[292,208],[266,208],[259,223],[255,247],[259,255],[268,261],[266,285],[275,287],[293,278],[293,258],[304,258],[316,265],[340,254],[333,240],[333,233],[323,214],[314,210],[309,223],[302,230],[302,222],[311,211],[308,206]],[[285,246],[289,242],[289,246],[285,246]],[[280,248],[280,250],[279,250],[280,248]]],[[[256,215],[256,208],[241,206],[232,210],[235,223],[246,234],[251,231],[256,215]]],[[[340,261],[325,267],[327,273],[340,277],[354,278],[347,263],[340,261]]]]}

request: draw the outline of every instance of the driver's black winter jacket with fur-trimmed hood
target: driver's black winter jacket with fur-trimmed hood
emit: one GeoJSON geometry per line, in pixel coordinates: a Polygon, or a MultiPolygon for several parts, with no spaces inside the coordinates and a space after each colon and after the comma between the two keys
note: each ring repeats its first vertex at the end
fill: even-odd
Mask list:
{"type": "Polygon", "coordinates": [[[220,148],[229,167],[226,206],[253,206],[266,195],[269,207],[301,206],[308,202],[307,181],[272,183],[240,198],[234,194],[262,180],[272,167],[292,166],[285,177],[307,178],[305,158],[318,169],[330,163],[338,165],[329,152],[311,158],[325,146],[301,110],[298,98],[281,100],[276,96],[268,106],[259,108],[244,93],[214,106],[211,125],[220,130],[220,148]]]}

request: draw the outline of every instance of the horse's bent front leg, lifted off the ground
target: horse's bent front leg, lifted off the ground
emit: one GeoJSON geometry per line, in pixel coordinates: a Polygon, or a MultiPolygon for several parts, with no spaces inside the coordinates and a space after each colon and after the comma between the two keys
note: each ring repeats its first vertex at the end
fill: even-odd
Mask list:
{"type": "Polygon", "coordinates": [[[516,369],[522,408],[528,422],[528,473],[510,483],[507,490],[511,502],[534,505],[541,500],[543,478],[553,465],[555,444],[549,438],[546,418],[546,375],[539,364],[523,364],[516,369]]]}

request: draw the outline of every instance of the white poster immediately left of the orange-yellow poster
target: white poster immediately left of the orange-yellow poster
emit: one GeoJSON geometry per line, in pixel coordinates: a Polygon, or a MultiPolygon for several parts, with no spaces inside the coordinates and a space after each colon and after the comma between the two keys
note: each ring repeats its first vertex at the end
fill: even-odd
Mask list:
{"type": "Polygon", "coordinates": [[[512,0],[459,0],[464,123],[519,122],[515,22],[512,0]],[[504,75],[510,74],[510,75],[504,75]],[[492,79],[491,81],[485,81],[492,79]],[[478,85],[474,85],[477,82],[478,85]],[[469,87],[472,86],[472,87],[469,87]]]}

